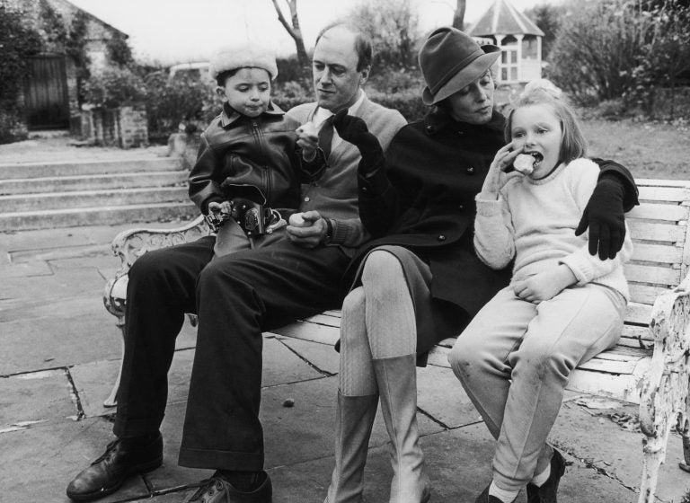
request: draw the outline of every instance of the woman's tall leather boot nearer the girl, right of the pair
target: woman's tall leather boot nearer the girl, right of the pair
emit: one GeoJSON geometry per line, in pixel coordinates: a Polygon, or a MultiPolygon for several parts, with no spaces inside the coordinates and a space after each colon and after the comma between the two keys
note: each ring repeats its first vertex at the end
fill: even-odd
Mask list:
{"type": "Polygon", "coordinates": [[[417,357],[374,359],[385,428],[391,438],[391,503],[425,503],[431,484],[417,429],[417,357]]]}

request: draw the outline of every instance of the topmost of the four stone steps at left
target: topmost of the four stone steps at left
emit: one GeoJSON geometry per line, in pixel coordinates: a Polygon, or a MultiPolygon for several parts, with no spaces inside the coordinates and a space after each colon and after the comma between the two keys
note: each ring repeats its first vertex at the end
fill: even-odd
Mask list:
{"type": "Polygon", "coordinates": [[[181,169],[181,164],[175,157],[95,159],[55,163],[0,163],[0,180],[124,172],[164,172],[179,169],[181,169]]]}

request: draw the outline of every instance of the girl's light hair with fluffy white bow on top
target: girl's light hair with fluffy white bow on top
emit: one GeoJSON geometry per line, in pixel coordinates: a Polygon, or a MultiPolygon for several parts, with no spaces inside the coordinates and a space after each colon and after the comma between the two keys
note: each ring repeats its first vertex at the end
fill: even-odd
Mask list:
{"type": "Polygon", "coordinates": [[[509,142],[511,139],[510,130],[512,129],[515,110],[527,105],[546,105],[553,111],[553,115],[561,121],[561,162],[570,163],[579,157],[584,157],[587,153],[587,141],[579,128],[575,112],[562,94],[558,87],[546,79],[539,79],[526,84],[525,90],[510,105],[504,132],[506,141],[509,142]]]}

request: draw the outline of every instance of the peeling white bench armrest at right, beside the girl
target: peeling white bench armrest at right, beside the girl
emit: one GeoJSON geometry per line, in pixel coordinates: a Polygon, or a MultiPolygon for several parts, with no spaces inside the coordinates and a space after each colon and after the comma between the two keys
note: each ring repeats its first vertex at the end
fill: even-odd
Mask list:
{"type": "MultiPolygon", "coordinates": [[[[685,417],[690,356],[690,275],[657,297],[651,312],[654,352],[642,382],[640,423],[648,437],[668,435],[677,413],[685,417]]],[[[684,421],[685,422],[685,421],[684,421]]]]}

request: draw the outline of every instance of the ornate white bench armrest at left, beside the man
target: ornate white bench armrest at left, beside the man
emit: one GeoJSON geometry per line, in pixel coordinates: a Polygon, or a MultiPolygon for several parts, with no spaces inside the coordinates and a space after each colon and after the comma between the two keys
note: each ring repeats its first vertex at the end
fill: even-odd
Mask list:
{"type": "Polygon", "coordinates": [[[132,264],[146,252],[160,250],[173,244],[190,243],[211,234],[204,216],[198,216],[189,224],[171,229],[135,228],[122,231],[112,240],[112,252],[119,256],[120,266],[115,276],[108,280],[103,292],[103,304],[114,316],[124,316],[124,299],[127,293],[127,274],[132,264]]]}

